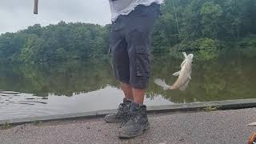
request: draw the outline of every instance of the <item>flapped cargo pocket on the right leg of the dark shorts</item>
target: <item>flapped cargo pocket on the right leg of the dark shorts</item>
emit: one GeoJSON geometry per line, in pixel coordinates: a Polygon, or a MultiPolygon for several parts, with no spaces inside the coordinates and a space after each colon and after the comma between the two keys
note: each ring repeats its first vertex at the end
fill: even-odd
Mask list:
{"type": "Polygon", "coordinates": [[[150,50],[147,47],[136,47],[135,64],[138,77],[150,77],[150,50]]]}

